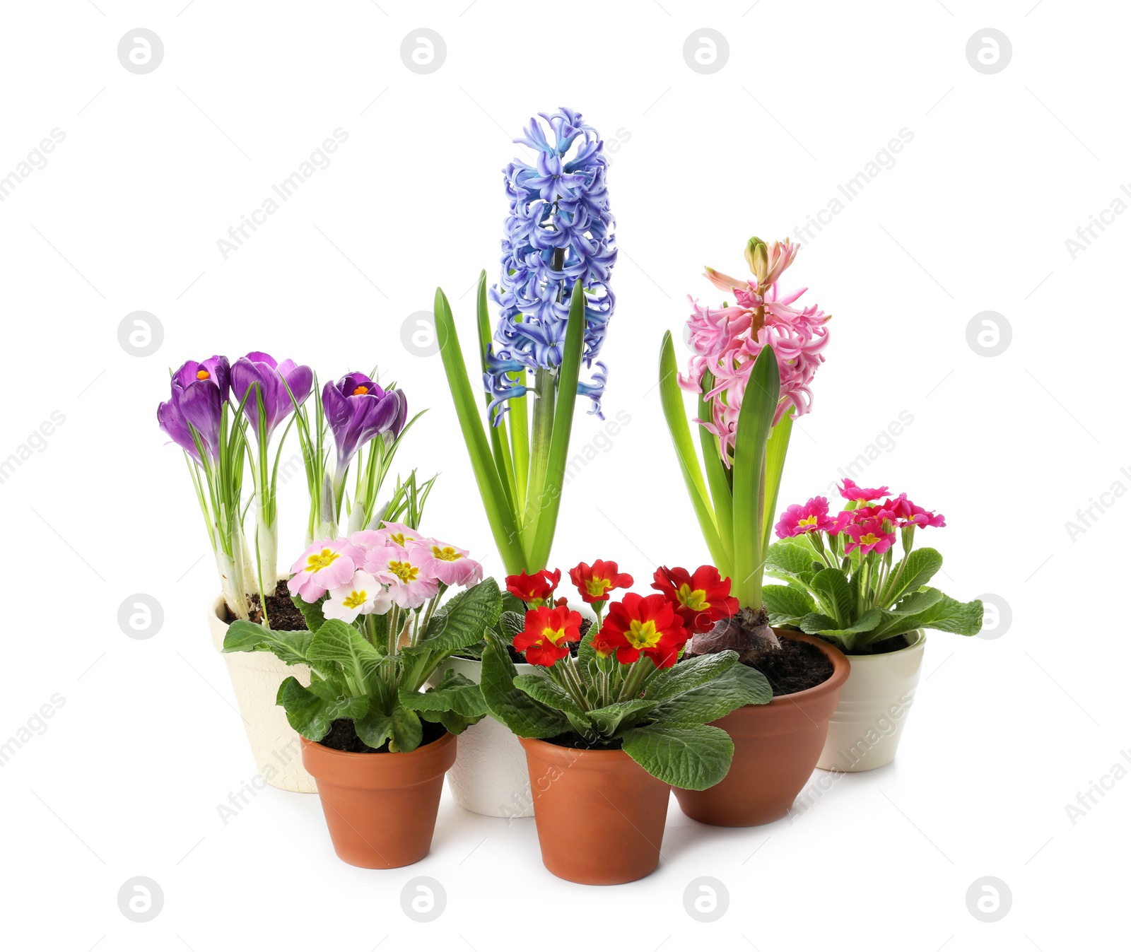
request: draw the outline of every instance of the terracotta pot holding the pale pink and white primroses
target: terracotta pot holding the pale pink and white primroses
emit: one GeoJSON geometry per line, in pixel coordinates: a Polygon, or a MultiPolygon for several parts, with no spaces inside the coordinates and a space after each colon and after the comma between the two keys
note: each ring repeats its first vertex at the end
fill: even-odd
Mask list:
{"type": "Polygon", "coordinates": [[[428,856],[443,774],[455,760],[451,734],[408,754],[351,754],[302,738],[302,762],[318,781],[334,851],[366,869],[428,856]]]}

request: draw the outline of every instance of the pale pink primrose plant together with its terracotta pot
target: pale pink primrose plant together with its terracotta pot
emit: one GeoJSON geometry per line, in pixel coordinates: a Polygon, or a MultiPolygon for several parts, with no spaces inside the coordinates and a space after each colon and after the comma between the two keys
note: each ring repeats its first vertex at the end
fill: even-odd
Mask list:
{"type": "Polygon", "coordinates": [[[416,863],[456,735],[486,713],[480,686],[455,672],[421,689],[495,624],[499,587],[480,581],[466,551],[399,525],[321,539],[295,565],[287,585],[309,630],[238,621],[224,651],[310,669],[309,685],[282,683],[278,703],[302,737],[337,855],[372,869],[416,863]],[[451,586],[464,590],[444,603],[451,586]]]}

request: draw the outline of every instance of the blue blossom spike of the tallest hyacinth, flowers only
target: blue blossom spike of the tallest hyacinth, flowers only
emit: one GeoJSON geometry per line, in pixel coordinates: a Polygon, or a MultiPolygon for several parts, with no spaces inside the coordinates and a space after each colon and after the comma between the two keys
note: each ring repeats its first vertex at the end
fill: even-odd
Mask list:
{"type": "Polygon", "coordinates": [[[524,369],[554,373],[561,365],[578,278],[586,297],[582,361],[593,370],[593,380],[579,382],[577,391],[593,400],[590,413],[604,418],[601,398],[607,369],[597,355],[615,303],[608,276],[616,261],[604,142],[578,112],[560,109],[539,115],[549,130],[532,118],[525,135],[515,139],[537,152],[535,165],[515,161],[503,170],[510,215],[502,240],[502,275],[491,289],[501,310],[484,374],[495,425],[503,418],[506,401],[527,390],[510,374],[524,369]]]}

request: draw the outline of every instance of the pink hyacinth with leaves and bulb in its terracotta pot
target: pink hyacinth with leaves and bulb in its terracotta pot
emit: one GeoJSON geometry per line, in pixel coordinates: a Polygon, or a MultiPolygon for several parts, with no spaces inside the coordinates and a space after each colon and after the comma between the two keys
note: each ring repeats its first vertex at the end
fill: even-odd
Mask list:
{"type": "Polygon", "coordinates": [[[736,651],[742,665],[766,675],[775,695],[717,721],[735,748],[722,782],[675,789],[684,813],[724,826],[768,823],[788,812],[817,764],[848,675],[848,661],[828,641],[775,631],[762,598],[789,433],[811,408],[828,343],[829,315],[815,304],[797,305],[803,291],[778,291],[796,252],[788,239],[767,245],[754,237],[745,251],[752,280],[708,268],[706,277],[733,303],[694,303],[687,377],[679,374],[671,334],[661,350],[661,398],[684,483],[713,561],[735,580],[739,602],[734,615],[696,632],[689,655],[736,651]],[[697,395],[701,465],[681,386],[697,395]]]}

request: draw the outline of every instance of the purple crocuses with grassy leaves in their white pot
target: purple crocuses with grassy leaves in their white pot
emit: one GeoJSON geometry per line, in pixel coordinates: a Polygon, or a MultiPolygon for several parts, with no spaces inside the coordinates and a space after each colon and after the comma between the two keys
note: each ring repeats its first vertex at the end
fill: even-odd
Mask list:
{"type": "MultiPolygon", "coordinates": [[[[370,458],[363,467],[366,476],[383,477],[399,436],[407,430],[404,395],[392,391],[395,396],[390,400],[389,395],[372,381],[364,380],[372,391],[368,400],[362,392],[352,395],[348,400],[335,400],[334,395],[323,391],[322,401],[314,400],[317,418],[311,425],[308,397],[317,390],[317,378],[309,366],[294,361],[278,362],[269,354],[252,352],[230,364],[226,357],[216,355],[200,362],[187,361],[172,373],[170,399],[158,406],[157,422],[184,452],[215,553],[221,595],[209,604],[207,616],[217,651],[223,648],[232,621],[251,620],[276,630],[305,629],[305,620],[292,604],[276,566],[277,486],[283,448],[291,426],[297,422],[311,487],[308,535],[328,527],[336,533],[340,500],[338,509],[334,510],[334,494],[322,487],[323,477],[329,482],[325,476],[329,468],[329,450],[323,449],[323,442],[330,429],[329,409],[323,412],[323,407],[335,410],[329,422],[334,424],[335,442],[340,445],[346,442],[347,424],[343,422],[345,414],[338,409],[339,405],[363,405],[361,408],[365,413],[361,415],[369,425],[354,439],[352,452],[347,451],[344,461],[348,466],[361,445],[369,442],[370,458]],[[380,405],[380,414],[374,404],[380,405]],[[370,422],[372,417],[379,417],[375,426],[370,422]],[[380,445],[375,445],[378,443],[380,445]],[[249,470],[250,492],[247,492],[249,470]],[[321,518],[323,503],[328,519],[321,518]],[[245,533],[243,513],[252,504],[254,529],[245,533]]],[[[363,386],[357,383],[354,390],[363,386]]],[[[334,388],[335,384],[327,384],[327,390],[334,388]]],[[[338,461],[344,478],[340,450],[338,461]]],[[[359,484],[379,488],[380,481],[360,479],[359,484]]],[[[417,486],[415,476],[404,484],[398,483],[389,505],[380,514],[390,519],[412,518],[406,512],[418,512],[430,487],[431,482],[417,486]]],[[[366,501],[374,496],[375,492],[371,492],[366,501]]],[[[357,493],[355,499],[360,497],[357,493]]],[[[360,518],[365,507],[355,505],[355,510],[360,518]]],[[[307,681],[309,672],[302,667],[288,672],[285,665],[264,654],[230,655],[226,661],[260,776],[282,789],[313,793],[313,779],[302,767],[299,738],[275,706],[282,681],[290,674],[307,681]]]]}

